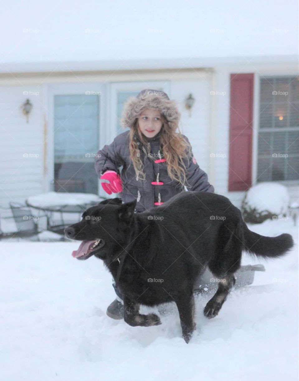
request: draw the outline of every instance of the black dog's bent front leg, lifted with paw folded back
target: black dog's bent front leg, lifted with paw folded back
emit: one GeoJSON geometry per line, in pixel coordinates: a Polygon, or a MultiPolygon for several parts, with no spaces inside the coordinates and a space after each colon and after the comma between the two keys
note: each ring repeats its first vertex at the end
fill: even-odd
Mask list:
{"type": "Polygon", "coordinates": [[[156,314],[139,314],[140,304],[134,303],[124,296],[124,321],[132,327],[150,327],[161,324],[159,316],[156,314]]]}

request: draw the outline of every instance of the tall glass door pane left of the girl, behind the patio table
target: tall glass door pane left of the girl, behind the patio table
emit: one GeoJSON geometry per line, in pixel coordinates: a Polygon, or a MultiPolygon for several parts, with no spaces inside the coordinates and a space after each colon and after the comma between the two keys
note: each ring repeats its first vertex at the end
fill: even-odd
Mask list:
{"type": "Polygon", "coordinates": [[[97,194],[99,97],[56,95],[54,115],[54,190],[97,194]]]}

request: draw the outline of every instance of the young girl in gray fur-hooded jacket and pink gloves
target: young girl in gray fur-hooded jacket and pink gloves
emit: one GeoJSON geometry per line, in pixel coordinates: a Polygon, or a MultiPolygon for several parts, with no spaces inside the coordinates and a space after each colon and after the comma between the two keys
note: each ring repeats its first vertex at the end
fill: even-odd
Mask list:
{"type": "MultiPolygon", "coordinates": [[[[192,154],[188,138],[179,130],[175,101],[158,90],[142,90],[124,104],[121,124],[129,131],[99,150],[95,170],[108,194],[123,202],[137,199],[135,212],[150,210],[185,191],[214,192],[207,174],[192,154]],[[119,172],[119,167],[123,166],[119,172]]],[[[123,318],[121,292],[107,309],[113,319],[123,318]]]]}

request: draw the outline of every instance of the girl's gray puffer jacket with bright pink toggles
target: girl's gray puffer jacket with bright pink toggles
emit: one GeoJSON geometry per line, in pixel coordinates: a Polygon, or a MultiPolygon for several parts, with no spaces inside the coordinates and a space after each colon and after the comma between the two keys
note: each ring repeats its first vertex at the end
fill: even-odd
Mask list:
{"type": "MultiPolygon", "coordinates": [[[[187,142],[188,138],[184,136],[187,142]]],[[[167,167],[165,163],[155,163],[159,158],[159,138],[158,133],[153,138],[149,138],[151,146],[152,157],[148,157],[143,151],[143,143],[138,136],[135,136],[137,144],[140,149],[140,158],[144,164],[143,172],[145,173],[146,181],[142,179],[136,179],[136,172],[132,160],[129,157],[129,131],[125,131],[114,139],[110,145],[106,145],[103,149],[97,152],[95,158],[95,170],[100,178],[102,174],[107,170],[116,171],[120,174],[122,181],[122,192],[118,194],[123,202],[130,202],[137,199],[136,209],[137,212],[150,210],[156,207],[155,202],[166,202],[174,195],[185,191],[178,181],[170,179],[167,173],[167,167]],[[130,165],[131,164],[131,165],[130,165]],[[129,167],[130,165],[130,167],[129,167]],[[119,167],[122,166],[122,170],[119,171],[119,167]],[[154,185],[152,182],[163,182],[161,185],[154,185]]],[[[163,156],[162,156],[163,157],[163,156]]],[[[202,191],[202,192],[214,192],[214,187],[208,182],[207,174],[199,168],[196,160],[193,158],[191,151],[191,157],[184,158],[184,164],[188,168],[186,172],[187,182],[185,186],[189,191],[202,191]]]]}

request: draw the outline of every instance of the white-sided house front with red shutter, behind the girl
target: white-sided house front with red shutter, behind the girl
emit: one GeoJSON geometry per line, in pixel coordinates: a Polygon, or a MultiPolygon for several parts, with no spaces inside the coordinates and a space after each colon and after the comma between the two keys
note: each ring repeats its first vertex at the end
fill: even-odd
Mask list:
{"type": "Polygon", "coordinates": [[[259,181],[299,195],[298,56],[6,64],[0,68],[0,203],[51,190],[106,195],[94,155],[116,134],[122,104],[165,91],[200,168],[240,207],[259,181]],[[195,99],[186,109],[189,94],[195,99]],[[24,115],[29,99],[31,112],[24,115]]]}

